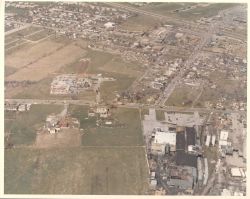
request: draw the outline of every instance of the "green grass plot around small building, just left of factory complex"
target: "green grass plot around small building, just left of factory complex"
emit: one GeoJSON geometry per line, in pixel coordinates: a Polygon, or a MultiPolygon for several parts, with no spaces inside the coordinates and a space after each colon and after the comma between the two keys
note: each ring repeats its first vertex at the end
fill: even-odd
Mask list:
{"type": "Polygon", "coordinates": [[[121,124],[121,126],[114,127],[96,126],[96,118],[88,118],[88,107],[86,106],[72,105],[69,111],[73,117],[80,120],[80,128],[84,129],[83,146],[143,145],[140,115],[137,109],[112,109],[111,118],[121,124]]]}

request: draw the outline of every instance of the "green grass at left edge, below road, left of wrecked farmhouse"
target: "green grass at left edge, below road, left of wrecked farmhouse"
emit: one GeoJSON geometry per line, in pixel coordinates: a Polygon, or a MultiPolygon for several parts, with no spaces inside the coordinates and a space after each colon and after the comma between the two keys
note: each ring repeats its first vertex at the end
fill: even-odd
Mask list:
{"type": "Polygon", "coordinates": [[[10,142],[14,145],[32,144],[37,128],[44,125],[47,115],[61,110],[58,105],[32,105],[28,112],[5,112],[4,131],[11,133],[10,142]]]}

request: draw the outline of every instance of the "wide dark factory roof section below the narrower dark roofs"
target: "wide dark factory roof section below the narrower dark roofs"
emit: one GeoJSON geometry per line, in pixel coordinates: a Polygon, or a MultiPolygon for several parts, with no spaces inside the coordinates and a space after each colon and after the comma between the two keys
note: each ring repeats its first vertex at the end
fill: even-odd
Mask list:
{"type": "Polygon", "coordinates": [[[197,168],[197,156],[185,153],[185,151],[176,151],[176,164],[181,166],[190,166],[197,168]]]}

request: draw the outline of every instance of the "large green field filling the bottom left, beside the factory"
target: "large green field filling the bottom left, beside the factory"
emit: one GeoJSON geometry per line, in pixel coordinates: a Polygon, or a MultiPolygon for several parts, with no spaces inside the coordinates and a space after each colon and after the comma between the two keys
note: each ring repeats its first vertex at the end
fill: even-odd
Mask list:
{"type": "Polygon", "coordinates": [[[145,194],[143,148],[5,151],[5,194],[145,194]]]}

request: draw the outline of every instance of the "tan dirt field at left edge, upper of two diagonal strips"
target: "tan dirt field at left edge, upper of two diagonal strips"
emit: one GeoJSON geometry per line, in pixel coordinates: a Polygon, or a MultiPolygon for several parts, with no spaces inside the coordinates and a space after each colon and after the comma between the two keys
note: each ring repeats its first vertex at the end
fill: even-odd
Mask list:
{"type": "Polygon", "coordinates": [[[29,45],[5,57],[5,66],[22,68],[27,64],[35,62],[39,58],[46,56],[62,44],[53,41],[44,41],[35,45],[29,45]]]}

